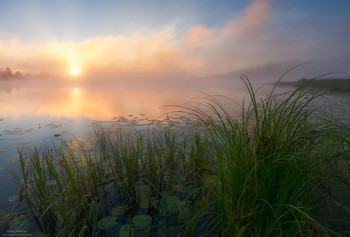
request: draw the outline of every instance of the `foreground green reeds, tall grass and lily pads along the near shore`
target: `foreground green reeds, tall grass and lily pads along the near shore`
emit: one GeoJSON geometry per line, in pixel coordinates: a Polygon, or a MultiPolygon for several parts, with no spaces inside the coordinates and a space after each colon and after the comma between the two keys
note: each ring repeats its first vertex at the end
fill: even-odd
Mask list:
{"type": "Polygon", "coordinates": [[[321,93],[258,99],[243,82],[250,102],[238,119],[207,96],[174,107],[189,127],[99,129],[90,147],[20,150],[19,202],[1,217],[4,233],[349,235],[349,125],[315,115],[321,93]]]}

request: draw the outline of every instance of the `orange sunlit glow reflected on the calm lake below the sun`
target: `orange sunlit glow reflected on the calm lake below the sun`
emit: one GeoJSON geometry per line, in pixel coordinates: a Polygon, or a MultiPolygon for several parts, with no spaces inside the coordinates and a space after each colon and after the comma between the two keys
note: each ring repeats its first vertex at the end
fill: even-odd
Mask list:
{"type": "Polygon", "coordinates": [[[204,96],[242,98],[242,81],[123,81],[66,83],[47,81],[1,82],[1,116],[87,117],[110,120],[115,116],[146,114],[156,118],[166,105],[180,105],[204,96]]]}

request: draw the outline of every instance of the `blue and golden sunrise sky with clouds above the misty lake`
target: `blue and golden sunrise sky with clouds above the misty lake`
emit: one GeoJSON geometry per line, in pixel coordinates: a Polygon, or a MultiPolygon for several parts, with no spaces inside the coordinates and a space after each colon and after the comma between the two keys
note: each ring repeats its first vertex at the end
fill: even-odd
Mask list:
{"type": "Polygon", "coordinates": [[[0,79],[204,77],[339,58],[327,70],[350,70],[349,0],[0,4],[0,79]]]}

